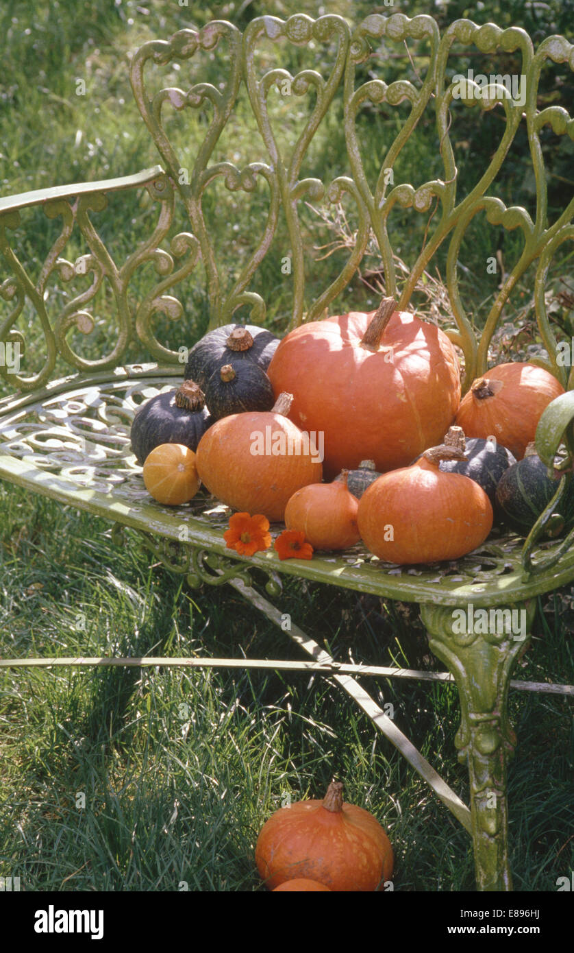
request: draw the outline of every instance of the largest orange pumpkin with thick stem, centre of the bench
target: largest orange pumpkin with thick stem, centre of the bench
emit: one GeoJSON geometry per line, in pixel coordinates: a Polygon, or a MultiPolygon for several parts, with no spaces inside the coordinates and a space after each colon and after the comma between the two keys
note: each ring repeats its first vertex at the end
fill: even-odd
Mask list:
{"type": "Polygon", "coordinates": [[[326,479],[373,459],[406,466],[438,444],[461,399],[457,357],[444,332],[385,298],[377,312],[349,312],[296,328],[267,375],[294,395],[289,416],[325,433],[326,479]]]}

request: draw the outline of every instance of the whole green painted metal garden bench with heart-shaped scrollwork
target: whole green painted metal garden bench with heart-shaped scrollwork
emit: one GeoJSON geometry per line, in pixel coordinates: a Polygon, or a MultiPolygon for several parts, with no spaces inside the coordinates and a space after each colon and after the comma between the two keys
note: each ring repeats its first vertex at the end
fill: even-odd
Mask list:
{"type": "MultiPolygon", "coordinates": [[[[457,745],[466,760],[470,776],[470,810],[451,792],[408,740],[401,735],[366,691],[350,678],[352,666],[338,666],[319,646],[296,626],[289,632],[315,659],[320,670],[333,677],[366,710],[377,727],[384,731],[426,778],[438,796],[472,834],[476,858],[477,883],[482,890],[509,890],[506,829],[506,763],[515,737],[508,722],[506,699],[513,666],[525,651],[528,636],[516,638],[507,626],[490,626],[485,635],[460,634],[453,626],[454,610],[469,605],[475,609],[523,609],[532,623],[535,597],[574,578],[573,534],[562,540],[542,542],[544,524],[553,507],[548,507],[526,540],[496,537],[456,564],[427,567],[397,567],[380,563],[355,547],[337,558],[318,557],[310,562],[280,562],[274,552],[257,554],[252,559],[230,555],[222,537],[227,519],[221,508],[209,507],[205,497],[188,507],[166,508],[150,502],[143,486],[141,470],[129,450],[129,423],[139,403],[149,395],[173,385],[182,375],[185,356],[160,343],[153,331],[158,313],[180,320],[183,307],[174,292],[185,288],[188,275],[201,262],[208,288],[210,327],[232,319],[247,306],[251,322],[263,322],[266,302],[251,290],[253,276],[266,255],[276,233],[280,208],[283,208],[290,239],[291,280],[293,286],[292,325],[321,316],[356,274],[366,252],[369,235],[374,233],[385,270],[386,294],[392,294],[406,309],[413,290],[436,250],[447,246],[446,282],[456,328],[447,329],[450,339],[465,357],[465,388],[474,376],[485,372],[488,348],[499,318],[517,282],[534,262],[536,317],[547,351],[545,366],[564,384],[566,394],[554,401],[544,414],[537,435],[537,449],[551,468],[559,445],[565,441],[573,449],[571,422],[574,419],[574,377],[559,360],[559,347],[544,299],[544,283],[553,256],[564,242],[574,238],[570,224],[574,203],[551,225],[547,222],[546,183],[541,132],[551,127],[559,135],[574,139],[574,120],[563,107],[553,105],[537,109],[537,90],[541,71],[548,61],[574,70],[574,47],[561,36],[552,36],[534,51],[521,29],[500,30],[488,24],[478,27],[459,20],[443,36],[429,16],[408,19],[397,13],[390,17],[371,15],[355,30],[335,15],[313,21],[296,15],[287,22],[264,16],[253,20],[242,33],[227,22],[208,24],[203,30],[180,30],[168,41],[147,43],[135,53],[130,75],[135,100],[148,131],[161,156],[161,166],[125,178],[56,187],[0,199],[0,251],[6,271],[0,295],[4,314],[0,323],[0,348],[4,357],[0,372],[13,393],[0,400],[0,476],[30,491],[72,504],[100,517],[112,520],[118,529],[138,531],[156,557],[169,569],[183,573],[191,585],[230,583],[254,605],[282,625],[279,610],[263,596],[255,584],[263,582],[267,596],[281,592],[281,573],[305,577],[350,590],[373,593],[383,598],[398,598],[420,604],[434,654],[443,659],[456,680],[462,709],[462,724],[457,745]],[[320,43],[330,44],[332,69],[327,78],[305,70],[291,76],[286,70],[272,69],[258,78],[255,50],[263,40],[278,44],[285,40],[312,50],[320,43]],[[358,83],[357,68],[371,52],[389,41],[414,40],[426,44],[426,74],[420,88],[410,82],[386,85],[372,78],[358,83]],[[480,87],[468,81],[464,88],[447,75],[453,45],[474,46],[483,54],[513,52],[522,60],[525,99],[509,95],[505,77],[497,75],[480,96],[480,87]],[[148,93],[146,68],[150,64],[166,66],[173,61],[192,60],[200,51],[216,47],[228,50],[228,72],[219,88],[196,83],[189,90],[163,89],[148,93]],[[282,154],[267,112],[267,97],[274,88],[287,82],[295,96],[307,91],[315,94],[307,125],[289,155],[282,154]],[[211,155],[221,133],[233,114],[237,97],[247,88],[248,100],[261,133],[265,160],[245,169],[229,161],[210,165],[211,155]],[[449,139],[450,110],[453,99],[460,97],[458,109],[478,105],[482,110],[501,104],[505,113],[505,132],[487,169],[472,191],[457,202],[457,167],[449,139]],[[362,148],[357,132],[357,114],[368,104],[397,107],[410,104],[410,112],[400,132],[389,143],[376,182],[367,181],[362,148]],[[195,157],[189,175],[182,174],[186,163],[175,151],[167,132],[170,110],[211,110],[204,144],[195,157]],[[348,168],[330,183],[318,178],[300,178],[309,144],[328,110],[342,110],[346,135],[348,168]],[[393,184],[388,174],[408,137],[423,116],[436,123],[440,153],[444,164],[441,179],[425,182],[419,188],[393,184]],[[487,194],[495,177],[504,174],[505,157],[519,128],[527,132],[536,183],[536,218],[523,208],[506,208],[495,195],[487,194]],[[267,183],[267,219],[261,236],[231,289],[224,290],[222,274],[228,262],[217,260],[204,215],[204,200],[213,183],[223,178],[231,192],[253,193],[257,180],[267,183]],[[121,266],[112,256],[96,229],[95,221],[105,216],[108,197],[121,190],[148,190],[157,209],[151,234],[129,254],[121,266]],[[305,253],[300,211],[306,200],[338,203],[343,196],[354,202],[358,214],[356,243],[345,267],[329,287],[306,307],[305,253]],[[395,206],[425,214],[436,201],[440,218],[408,274],[399,287],[393,248],[387,229],[389,213],[395,206]],[[21,213],[29,206],[42,206],[51,219],[61,220],[60,233],[51,247],[37,281],[12,250],[21,240],[24,226],[21,213]],[[168,251],[161,249],[174,221],[176,207],[185,210],[189,232],[171,237],[168,251]],[[457,265],[467,229],[478,214],[488,223],[505,230],[523,233],[523,251],[510,274],[504,278],[499,294],[487,315],[485,328],[477,339],[465,314],[457,283],[457,265]],[[70,237],[82,234],[89,254],[75,264],[61,255],[70,237]],[[371,231],[372,230],[372,231],[371,231]],[[153,263],[159,279],[139,304],[129,296],[130,280],[143,264],[153,263]],[[89,282],[91,275],[91,283],[89,282]],[[81,286],[59,314],[48,314],[46,300],[49,280],[81,286]],[[113,295],[117,331],[105,341],[101,355],[87,356],[78,345],[79,335],[86,341],[95,334],[90,302],[106,283],[113,295]],[[22,372],[26,365],[25,335],[18,330],[33,307],[41,323],[45,341],[42,366],[33,373],[22,372]],[[74,337],[75,335],[75,337],[74,337]],[[150,363],[123,366],[130,344],[143,347],[150,363]],[[71,373],[62,377],[61,368],[71,373]]],[[[377,62],[372,59],[371,75],[377,62]]],[[[232,250],[227,250],[227,256],[232,250]]],[[[183,322],[182,322],[183,323],[183,322]]],[[[81,337],[79,338],[82,339],[81,337]]],[[[191,342],[186,342],[191,343],[191,342]]],[[[37,355],[36,355],[37,356],[37,355]]],[[[544,360],[539,360],[544,364],[544,360]]],[[[564,463],[569,466],[570,456],[564,463]]],[[[564,473],[555,499],[564,493],[568,476],[564,473]]],[[[500,614],[499,614],[500,615],[500,614]]],[[[497,617],[498,618],[498,617],[497,617]]],[[[501,617],[502,618],[502,617],[501,617]]],[[[308,664],[308,663],[307,663],[308,664]]],[[[383,671],[383,670],[381,670],[383,671]]],[[[385,670],[388,671],[388,670],[385,670]]],[[[401,673],[391,673],[400,675],[401,673]]],[[[403,673],[405,674],[405,673],[403,673]]]]}

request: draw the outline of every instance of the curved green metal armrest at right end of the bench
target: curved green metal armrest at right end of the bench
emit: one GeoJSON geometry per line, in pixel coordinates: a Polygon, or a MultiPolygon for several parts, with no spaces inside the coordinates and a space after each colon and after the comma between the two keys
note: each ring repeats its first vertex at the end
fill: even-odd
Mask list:
{"type": "Polygon", "coordinates": [[[567,391],[548,404],[536,428],[536,452],[548,468],[548,476],[559,474],[562,474],[562,476],[556,493],[538,517],[526,538],[522,552],[522,563],[526,576],[544,573],[545,570],[551,569],[574,542],[574,529],[572,529],[565,537],[562,546],[551,557],[532,562],[532,550],[543,536],[548,520],[556,512],[556,505],[564,497],[572,479],[572,462],[574,460],[573,422],[574,391],[567,391]],[[564,460],[555,465],[554,459],[562,443],[566,446],[567,455],[564,460]]]}

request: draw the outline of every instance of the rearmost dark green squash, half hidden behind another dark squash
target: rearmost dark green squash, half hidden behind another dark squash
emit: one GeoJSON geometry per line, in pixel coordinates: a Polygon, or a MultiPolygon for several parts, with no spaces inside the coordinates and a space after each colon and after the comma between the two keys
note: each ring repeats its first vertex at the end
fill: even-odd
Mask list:
{"type": "Polygon", "coordinates": [[[194,344],[186,365],[186,380],[194,380],[204,390],[209,377],[234,358],[255,363],[267,371],[279,338],[253,324],[226,324],[208,331],[194,344]]]}

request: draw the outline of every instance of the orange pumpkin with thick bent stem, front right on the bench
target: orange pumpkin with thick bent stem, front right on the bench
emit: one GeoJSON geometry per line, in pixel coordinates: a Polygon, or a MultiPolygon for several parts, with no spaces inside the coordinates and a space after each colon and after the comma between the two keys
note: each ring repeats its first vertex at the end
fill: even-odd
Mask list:
{"type": "Polygon", "coordinates": [[[387,562],[458,559],[485,541],[492,505],[468,476],[439,470],[441,460],[465,459],[454,446],[433,447],[410,467],[379,476],[359,500],[359,532],[387,562]]]}

